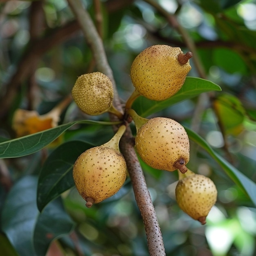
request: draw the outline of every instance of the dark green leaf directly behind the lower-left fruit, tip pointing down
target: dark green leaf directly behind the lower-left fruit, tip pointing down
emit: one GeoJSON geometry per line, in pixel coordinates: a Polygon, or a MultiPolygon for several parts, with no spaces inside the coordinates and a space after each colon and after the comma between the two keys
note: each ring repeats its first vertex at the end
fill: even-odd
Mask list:
{"type": "Polygon", "coordinates": [[[68,141],[49,155],[38,179],[37,207],[39,211],[75,185],[72,176],[74,162],[81,153],[92,146],[83,141],[68,141]]]}

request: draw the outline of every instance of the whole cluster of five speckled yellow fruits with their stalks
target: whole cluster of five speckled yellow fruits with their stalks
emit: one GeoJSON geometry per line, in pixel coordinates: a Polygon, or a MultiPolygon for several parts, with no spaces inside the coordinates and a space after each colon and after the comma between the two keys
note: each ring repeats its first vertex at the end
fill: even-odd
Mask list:
{"type": "Polygon", "coordinates": [[[205,223],[216,202],[217,191],[209,178],[187,169],[189,137],[186,130],[173,119],[145,119],[132,109],[132,103],[140,95],[162,101],[177,93],[191,70],[191,57],[191,52],[183,54],[179,47],[168,45],[153,45],[142,51],[131,66],[130,77],[135,90],[126,102],[124,115],[112,105],[114,90],[106,75],[93,72],[79,76],[72,89],[77,106],[88,115],[110,112],[123,122],[110,141],[86,150],[74,164],[74,182],[87,207],[109,198],[123,186],[127,168],[119,141],[132,119],[137,129],[138,155],[153,168],[179,170],[177,203],[192,218],[205,223]]]}

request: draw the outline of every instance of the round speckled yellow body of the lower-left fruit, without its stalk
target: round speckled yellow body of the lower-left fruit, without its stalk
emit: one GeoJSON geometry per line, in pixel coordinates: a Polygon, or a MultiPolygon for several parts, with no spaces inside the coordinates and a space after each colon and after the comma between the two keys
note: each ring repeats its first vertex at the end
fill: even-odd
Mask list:
{"type": "Polygon", "coordinates": [[[79,194],[98,203],[121,189],[126,180],[126,162],[117,150],[97,146],[78,157],[73,177],[79,194]]]}

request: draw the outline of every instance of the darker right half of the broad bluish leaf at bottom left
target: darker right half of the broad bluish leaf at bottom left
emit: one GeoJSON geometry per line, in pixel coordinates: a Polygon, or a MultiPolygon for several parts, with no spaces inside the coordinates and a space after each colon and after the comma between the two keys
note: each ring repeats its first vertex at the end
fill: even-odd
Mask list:
{"type": "Polygon", "coordinates": [[[74,229],[74,222],[66,213],[61,198],[57,198],[45,207],[38,216],[34,231],[36,256],[45,256],[50,243],[74,229]]]}

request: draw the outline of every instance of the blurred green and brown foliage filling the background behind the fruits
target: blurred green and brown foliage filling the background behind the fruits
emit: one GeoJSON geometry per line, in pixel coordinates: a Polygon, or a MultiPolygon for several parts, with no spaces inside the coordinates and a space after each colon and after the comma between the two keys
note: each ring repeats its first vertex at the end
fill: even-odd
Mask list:
{"type": "MultiPolygon", "coordinates": [[[[184,100],[149,117],[169,117],[192,129],[197,127],[196,132],[216,152],[256,182],[256,1],[103,0],[100,19],[97,3],[83,0],[98,25],[124,103],[133,91],[130,65],[141,50],[154,44],[189,50],[164,15],[174,14],[195,43],[203,78],[220,85],[222,92],[184,100]],[[198,104],[202,118],[195,121],[198,104]]],[[[2,2],[0,45],[0,142],[16,137],[12,121],[18,108],[46,114],[68,97],[78,76],[95,70],[91,50],[65,0],[2,2]]],[[[191,66],[189,76],[202,77],[193,58],[191,66]]],[[[79,119],[108,121],[108,115],[84,115],[71,102],[59,124],[79,119]]],[[[70,143],[68,147],[80,152],[83,147],[105,143],[112,135],[111,126],[75,124],[43,150],[0,159],[1,255],[148,255],[129,179],[115,196],[92,209],[85,207],[74,187],[50,202],[41,214],[36,206],[38,174],[48,156],[52,154],[54,159],[63,154],[60,158],[67,157],[72,163],[75,156],[65,153],[67,146],[55,150],[70,143]],[[74,141],[84,144],[77,142],[76,148],[74,141]]],[[[54,165],[49,163],[50,172],[54,165]]],[[[218,189],[218,201],[205,226],[177,206],[177,173],[141,165],[166,255],[256,255],[255,205],[202,148],[191,142],[188,167],[210,177],[218,189]]]]}

